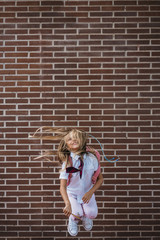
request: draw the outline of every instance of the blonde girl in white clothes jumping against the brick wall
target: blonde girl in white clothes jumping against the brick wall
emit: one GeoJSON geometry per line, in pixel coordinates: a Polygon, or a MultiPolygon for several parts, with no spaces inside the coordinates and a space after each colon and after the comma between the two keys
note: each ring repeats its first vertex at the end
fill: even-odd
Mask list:
{"type": "MultiPolygon", "coordinates": [[[[78,234],[78,222],[86,231],[90,231],[93,220],[98,213],[95,200],[95,191],[103,183],[100,172],[95,184],[92,177],[99,168],[96,151],[86,146],[87,134],[78,129],[55,129],[50,127],[41,128],[45,132],[54,132],[56,136],[40,136],[42,139],[60,139],[58,157],[62,164],[60,172],[60,193],[65,203],[63,212],[69,217],[68,232],[71,236],[78,234]]],[[[37,137],[39,129],[32,137],[37,137]]],[[[46,152],[44,157],[51,155],[46,152]]]]}

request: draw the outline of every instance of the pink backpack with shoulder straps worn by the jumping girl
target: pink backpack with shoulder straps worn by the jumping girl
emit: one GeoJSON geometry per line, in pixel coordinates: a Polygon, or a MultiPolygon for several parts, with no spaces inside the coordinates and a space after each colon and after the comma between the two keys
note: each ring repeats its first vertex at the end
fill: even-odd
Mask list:
{"type": "MultiPolygon", "coordinates": [[[[89,147],[87,147],[86,150],[87,150],[87,152],[89,152],[89,147]]],[[[100,166],[100,154],[99,154],[99,152],[97,150],[95,150],[95,154],[96,154],[96,157],[97,157],[97,160],[98,160],[98,169],[94,172],[94,174],[92,176],[92,183],[93,184],[96,183],[97,177],[99,176],[100,169],[101,169],[101,166],[100,166]]],[[[72,166],[72,158],[71,158],[71,156],[69,156],[69,162],[70,162],[70,165],[72,166]]],[[[69,173],[67,186],[70,184],[71,177],[72,177],[72,173],[69,173]]]]}

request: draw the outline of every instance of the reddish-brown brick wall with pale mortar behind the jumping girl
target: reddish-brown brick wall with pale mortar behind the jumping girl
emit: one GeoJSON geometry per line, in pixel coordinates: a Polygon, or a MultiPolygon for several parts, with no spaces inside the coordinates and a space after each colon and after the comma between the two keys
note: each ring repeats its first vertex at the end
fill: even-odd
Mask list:
{"type": "Polygon", "coordinates": [[[160,1],[1,0],[0,83],[0,240],[160,239],[160,1]],[[33,160],[43,125],[121,158],[92,232],[68,235],[59,165],[33,160]]]}

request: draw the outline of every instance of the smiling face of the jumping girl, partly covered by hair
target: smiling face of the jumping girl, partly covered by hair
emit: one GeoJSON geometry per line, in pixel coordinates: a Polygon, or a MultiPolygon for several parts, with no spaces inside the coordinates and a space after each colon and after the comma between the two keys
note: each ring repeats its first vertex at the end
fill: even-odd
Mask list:
{"type": "Polygon", "coordinates": [[[77,138],[77,136],[73,132],[70,132],[66,136],[65,142],[68,150],[71,152],[77,152],[80,148],[80,140],[79,138],[77,138]]]}

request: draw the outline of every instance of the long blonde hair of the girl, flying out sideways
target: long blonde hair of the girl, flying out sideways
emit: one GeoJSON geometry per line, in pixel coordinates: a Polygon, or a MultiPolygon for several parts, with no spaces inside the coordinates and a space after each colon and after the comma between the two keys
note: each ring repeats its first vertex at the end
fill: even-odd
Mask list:
{"type": "MultiPolygon", "coordinates": [[[[75,128],[53,128],[53,127],[40,127],[36,130],[36,132],[33,135],[30,135],[31,138],[38,138],[42,140],[51,140],[51,141],[60,141],[57,155],[58,160],[62,164],[63,162],[66,162],[66,166],[69,164],[68,158],[70,155],[70,151],[67,147],[66,140],[69,135],[72,134],[72,136],[79,140],[79,150],[76,152],[76,154],[80,155],[83,159],[84,153],[91,152],[95,155],[95,150],[91,147],[87,148],[86,151],[86,144],[88,139],[88,134],[79,129],[75,128]],[[55,136],[51,134],[55,134],[55,136]],[[46,135],[47,134],[47,135],[46,135]]],[[[40,155],[39,158],[44,158],[45,160],[51,161],[48,157],[51,155],[55,155],[55,151],[45,151],[44,154],[40,155]]]]}

